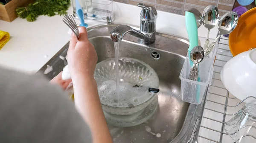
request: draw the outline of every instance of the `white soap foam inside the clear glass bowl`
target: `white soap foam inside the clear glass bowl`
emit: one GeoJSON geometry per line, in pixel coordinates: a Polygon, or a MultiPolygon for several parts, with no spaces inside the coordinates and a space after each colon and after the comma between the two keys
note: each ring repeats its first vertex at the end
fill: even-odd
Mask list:
{"type": "Polygon", "coordinates": [[[154,93],[148,92],[148,87],[133,87],[134,84],[119,82],[120,94],[116,99],[116,81],[104,81],[98,86],[99,97],[102,104],[111,107],[129,107],[140,105],[152,97],[154,93]]]}

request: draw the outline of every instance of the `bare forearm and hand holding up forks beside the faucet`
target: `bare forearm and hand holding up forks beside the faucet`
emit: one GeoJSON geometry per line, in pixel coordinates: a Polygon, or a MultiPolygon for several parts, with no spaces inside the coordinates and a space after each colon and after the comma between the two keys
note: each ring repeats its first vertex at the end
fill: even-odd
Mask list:
{"type": "Polygon", "coordinates": [[[78,41],[72,34],[67,51],[75,106],[91,129],[93,143],[113,143],[93,77],[98,60],[97,53],[88,40],[86,28],[79,27],[79,32],[78,41]]]}

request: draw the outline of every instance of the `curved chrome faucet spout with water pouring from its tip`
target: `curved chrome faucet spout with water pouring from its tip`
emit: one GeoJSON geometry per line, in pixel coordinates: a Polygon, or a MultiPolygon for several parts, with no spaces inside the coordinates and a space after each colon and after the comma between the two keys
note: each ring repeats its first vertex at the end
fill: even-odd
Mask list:
{"type": "Polygon", "coordinates": [[[152,43],[154,43],[154,41],[156,39],[155,32],[143,33],[134,28],[131,28],[128,25],[117,26],[110,32],[110,37],[113,42],[120,42],[122,40],[123,36],[125,36],[125,34],[127,34],[127,33],[141,39],[141,42],[144,44],[152,44],[152,43]]]}

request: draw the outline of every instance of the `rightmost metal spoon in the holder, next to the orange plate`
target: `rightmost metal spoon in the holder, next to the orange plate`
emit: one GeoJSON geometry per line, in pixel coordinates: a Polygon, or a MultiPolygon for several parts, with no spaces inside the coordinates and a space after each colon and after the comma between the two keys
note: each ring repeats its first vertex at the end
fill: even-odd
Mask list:
{"type": "Polygon", "coordinates": [[[219,34],[210,44],[210,46],[205,49],[204,56],[208,56],[209,53],[211,53],[212,49],[215,47],[215,44],[217,40],[220,38],[223,34],[230,34],[235,28],[238,23],[238,14],[235,11],[230,11],[221,17],[220,22],[218,23],[218,31],[219,34]]]}

